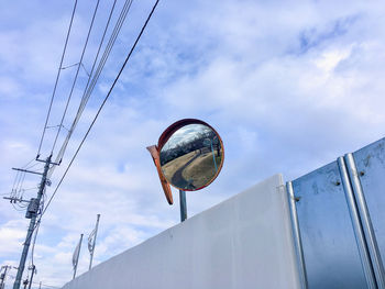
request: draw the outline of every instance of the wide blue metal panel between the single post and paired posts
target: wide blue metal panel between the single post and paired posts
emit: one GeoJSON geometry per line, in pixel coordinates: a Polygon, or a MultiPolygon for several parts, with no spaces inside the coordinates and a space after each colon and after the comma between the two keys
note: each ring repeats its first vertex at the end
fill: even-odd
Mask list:
{"type": "Polygon", "coordinates": [[[307,281],[367,288],[337,162],[293,181],[307,281]]]}

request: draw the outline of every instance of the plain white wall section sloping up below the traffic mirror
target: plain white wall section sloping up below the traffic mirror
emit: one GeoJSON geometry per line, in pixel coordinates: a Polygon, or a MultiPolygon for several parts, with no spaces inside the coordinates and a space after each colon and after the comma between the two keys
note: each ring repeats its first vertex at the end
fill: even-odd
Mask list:
{"type": "Polygon", "coordinates": [[[65,289],[299,288],[280,175],[99,264],[65,289]]]}

